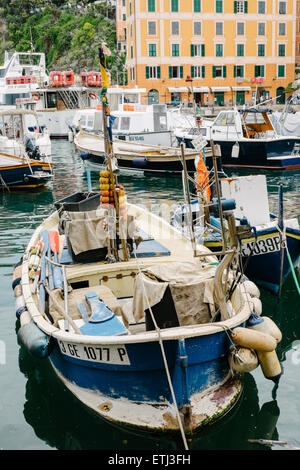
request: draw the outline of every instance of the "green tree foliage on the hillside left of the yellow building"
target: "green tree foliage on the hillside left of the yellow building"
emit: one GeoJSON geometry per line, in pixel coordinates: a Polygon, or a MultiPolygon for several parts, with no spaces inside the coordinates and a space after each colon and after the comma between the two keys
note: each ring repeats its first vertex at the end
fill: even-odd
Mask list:
{"type": "MultiPolygon", "coordinates": [[[[125,57],[116,46],[115,10],[110,1],[0,0],[4,50],[44,52],[47,69],[98,70],[98,47],[106,42],[112,55],[107,66],[112,78],[124,70],[125,57]]],[[[125,75],[125,74],[124,74],[125,75]]]]}

